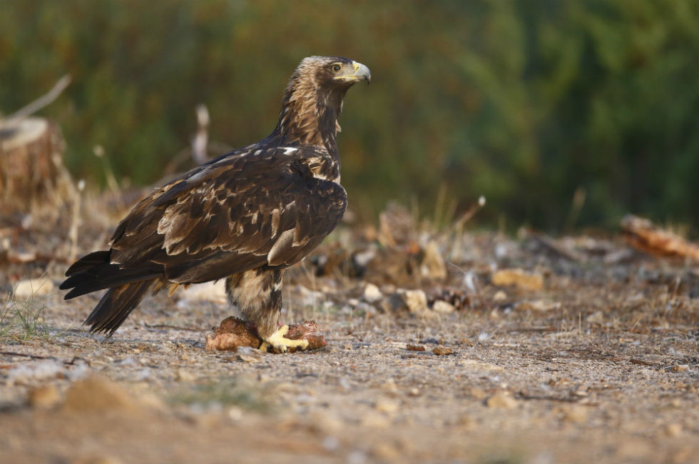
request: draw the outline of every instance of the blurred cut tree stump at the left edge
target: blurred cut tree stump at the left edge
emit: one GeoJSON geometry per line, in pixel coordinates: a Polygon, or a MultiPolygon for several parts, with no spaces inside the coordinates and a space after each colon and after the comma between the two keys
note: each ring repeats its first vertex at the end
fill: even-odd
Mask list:
{"type": "Polygon", "coordinates": [[[0,211],[27,211],[32,204],[56,201],[65,142],[58,124],[25,118],[0,125],[0,211]]]}

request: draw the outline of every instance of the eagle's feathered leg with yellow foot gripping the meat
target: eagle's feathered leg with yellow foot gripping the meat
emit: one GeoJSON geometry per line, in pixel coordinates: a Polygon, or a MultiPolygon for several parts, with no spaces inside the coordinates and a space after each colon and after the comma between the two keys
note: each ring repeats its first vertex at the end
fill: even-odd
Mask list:
{"type": "Polygon", "coordinates": [[[289,326],[277,328],[282,309],[283,272],[281,269],[252,269],[226,279],[228,301],[238,306],[240,316],[255,324],[257,335],[262,338],[260,350],[266,351],[272,346],[284,353],[292,346],[302,349],[308,346],[307,340],[284,338],[289,326]]]}

